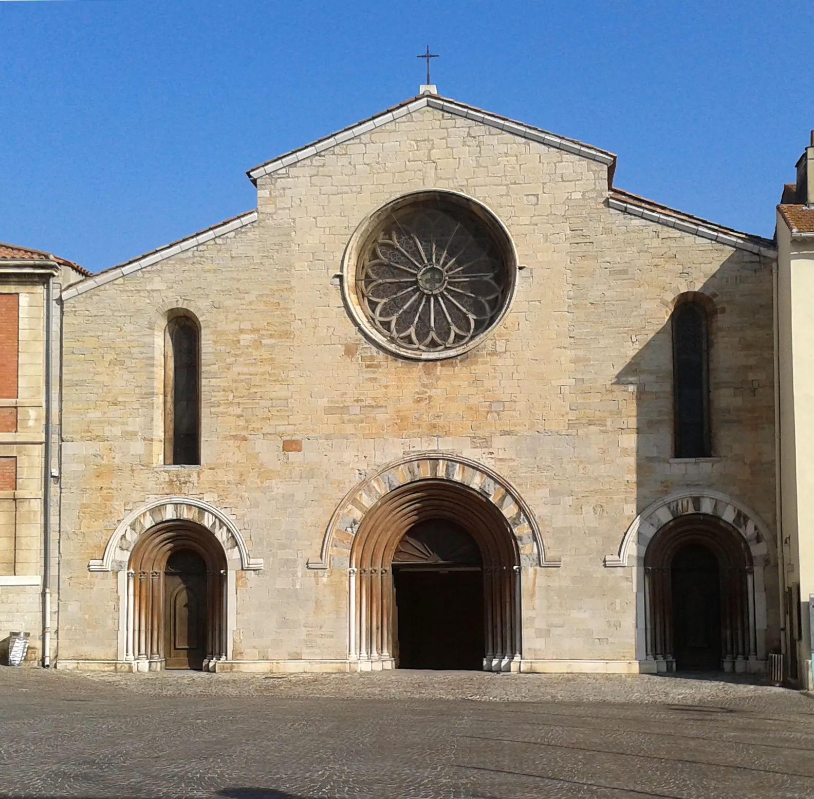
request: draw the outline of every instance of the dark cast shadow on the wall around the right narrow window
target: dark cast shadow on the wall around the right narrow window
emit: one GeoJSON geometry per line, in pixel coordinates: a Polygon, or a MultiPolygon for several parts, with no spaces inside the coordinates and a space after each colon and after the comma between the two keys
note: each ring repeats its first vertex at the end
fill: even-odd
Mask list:
{"type": "MultiPolygon", "coordinates": [[[[597,290],[588,289],[586,294],[593,295],[597,290]]],[[[591,303],[607,302],[598,296],[586,299],[591,303]]],[[[751,505],[773,529],[776,497],[771,265],[768,259],[758,255],[750,258],[748,253],[738,251],[698,291],[682,294],[676,287],[675,295],[666,294],[664,299],[698,302],[707,312],[711,452],[706,454],[711,457],[675,457],[672,318],[668,316],[671,309],[665,308],[663,325],[655,334],[645,334],[648,338],[644,343],[634,338],[634,346],[640,348],[618,369],[615,379],[616,386],[628,389],[628,402],[635,404],[635,421],[633,414],[627,415],[631,420],[628,424],[635,429],[618,432],[636,436],[635,474],[627,475],[628,480],[636,481],[636,513],[676,491],[707,488],[751,505]]],[[[642,312],[650,313],[650,309],[642,312]]],[[[621,317],[624,314],[620,308],[621,317]]],[[[636,330],[648,330],[649,322],[628,317],[615,330],[606,329],[603,334],[629,341],[636,330]]],[[[590,357],[602,357],[602,342],[597,342],[590,357]]],[[[584,388],[590,401],[590,386],[584,388]]],[[[634,545],[632,558],[635,552],[634,545]]],[[[628,564],[632,565],[632,560],[628,564]]],[[[771,568],[764,574],[766,644],[772,652],[779,646],[777,574],[772,574],[771,568]]],[[[667,597],[664,600],[670,602],[667,597]]],[[[673,637],[672,632],[669,636],[673,637]]]]}

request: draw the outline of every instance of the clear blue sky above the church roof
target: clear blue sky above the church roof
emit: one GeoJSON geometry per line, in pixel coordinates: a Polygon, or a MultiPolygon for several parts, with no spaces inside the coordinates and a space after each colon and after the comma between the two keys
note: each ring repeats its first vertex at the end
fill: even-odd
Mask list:
{"type": "Polygon", "coordinates": [[[423,82],[772,236],[814,128],[814,3],[0,2],[0,241],[98,271],[254,207],[248,168],[423,82]]]}

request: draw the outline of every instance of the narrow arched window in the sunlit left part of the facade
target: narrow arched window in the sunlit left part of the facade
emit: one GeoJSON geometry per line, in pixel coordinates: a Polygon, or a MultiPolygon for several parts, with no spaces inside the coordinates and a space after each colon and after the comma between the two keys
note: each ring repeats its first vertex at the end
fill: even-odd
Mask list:
{"type": "Polygon", "coordinates": [[[194,319],[171,318],[164,335],[164,463],[200,463],[200,347],[194,319]]]}

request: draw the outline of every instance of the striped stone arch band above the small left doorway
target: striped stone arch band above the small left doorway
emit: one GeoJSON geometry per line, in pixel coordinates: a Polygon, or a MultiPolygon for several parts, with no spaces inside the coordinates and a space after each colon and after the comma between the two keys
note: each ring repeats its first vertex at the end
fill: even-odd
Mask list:
{"type": "Polygon", "coordinates": [[[230,570],[256,571],[263,568],[262,558],[249,557],[243,535],[225,513],[203,500],[186,496],[168,496],[153,500],[129,513],[107,541],[103,557],[90,561],[88,570],[125,570],[133,546],[143,533],[161,522],[176,520],[194,522],[209,530],[221,543],[230,570]]]}

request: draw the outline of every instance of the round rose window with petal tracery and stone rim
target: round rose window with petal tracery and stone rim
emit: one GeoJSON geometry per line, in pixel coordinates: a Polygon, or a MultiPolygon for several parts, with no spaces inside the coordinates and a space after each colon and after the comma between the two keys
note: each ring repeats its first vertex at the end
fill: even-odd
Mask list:
{"type": "Polygon", "coordinates": [[[477,346],[505,317],[517,257],[480,203],[420,191],[357,228],[342,273],[345,304],[368,338],[397,356],[440,360],[477,346]]]}

